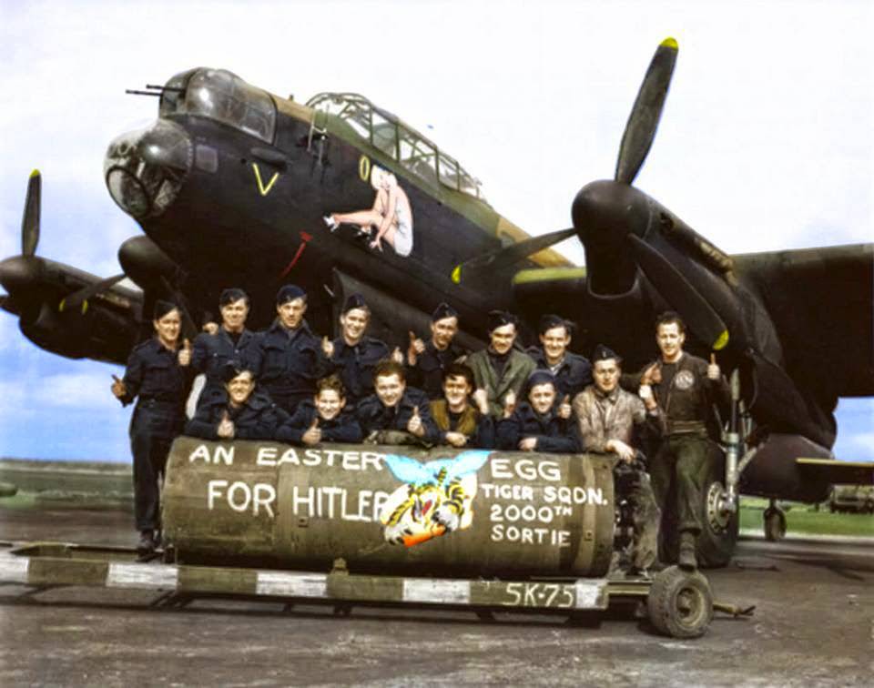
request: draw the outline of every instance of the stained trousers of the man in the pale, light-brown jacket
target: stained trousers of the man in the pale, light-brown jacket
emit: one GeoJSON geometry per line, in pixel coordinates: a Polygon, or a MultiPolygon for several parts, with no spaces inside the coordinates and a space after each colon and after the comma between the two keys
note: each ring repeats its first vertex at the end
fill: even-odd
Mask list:
{"type": "Polygon", "coordinates": [[[631,563],[636,569],[648,569],[658,560],[658,527],[662,513],[646,473],[645,463],[619,461],[613,470],[617,499],[631,507],[634,526],[631,563]]]}

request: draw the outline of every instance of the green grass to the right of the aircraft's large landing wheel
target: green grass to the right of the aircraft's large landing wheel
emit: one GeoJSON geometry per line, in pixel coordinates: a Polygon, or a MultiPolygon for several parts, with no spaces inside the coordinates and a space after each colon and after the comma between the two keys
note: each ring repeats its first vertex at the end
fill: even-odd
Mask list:
{"type": "MultiPolygon", "coordinates": [[[[743,498],[740,502],[740,527],[762,532],[762,512],[767,500],[743,498]]],[[[796,501],[780,502],[786,512],[789,535],[854,535],[874,538],[874,516],[861,513],[831,513],[828,506],[819,511],[812,504],[796,501]]]]}

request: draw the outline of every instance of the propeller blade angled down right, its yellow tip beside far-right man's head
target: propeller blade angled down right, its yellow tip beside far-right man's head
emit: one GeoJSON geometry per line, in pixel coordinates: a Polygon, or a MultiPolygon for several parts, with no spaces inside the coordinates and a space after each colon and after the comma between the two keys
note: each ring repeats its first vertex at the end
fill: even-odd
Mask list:
{"type": "Polygon", "coordinates": [[[655,248],[633,234],[628,238],[637,265],[666,301],[686,319],[695,336],[715,351],[725,349],[728,329],[716,310],[655,248]]]}

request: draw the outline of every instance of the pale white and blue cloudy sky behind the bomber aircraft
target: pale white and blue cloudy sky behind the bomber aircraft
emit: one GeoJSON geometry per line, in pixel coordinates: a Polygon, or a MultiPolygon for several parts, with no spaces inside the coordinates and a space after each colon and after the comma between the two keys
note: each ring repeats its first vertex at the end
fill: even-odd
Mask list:
{"type": "MultiPolygon", "coordinates": [[[[635,186],[729,253],[861,243],[874,227],[874,3],[0,2],[0,257],[101,276],[141,234],[103,181],[107,144],[157,116],[126,88],[223,67],[301,102],[361,93],[432,138],[531,234],[612,177],[645,68],[679,43],[635,186]]],[[[575,239],[559,245],[581,263],[575,239]]],[[[0,456],[129,461],[120,367],[36,348],[0,313],[0,456]]],[[[874,400],[841,400],[838,458],[874,460],[874,400]]]]}

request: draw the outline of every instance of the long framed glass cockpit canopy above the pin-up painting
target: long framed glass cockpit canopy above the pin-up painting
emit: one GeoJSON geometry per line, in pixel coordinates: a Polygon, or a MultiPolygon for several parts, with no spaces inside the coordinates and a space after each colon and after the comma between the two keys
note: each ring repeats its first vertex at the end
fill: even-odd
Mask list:
{"type": "Polygon", "coordinates": [[[397,160],[412,174],[432,183],[439,180],[444,187],[485,200],[479,179],[468,174],[457,160],[364,96],[320,93],[312,96],[307,106],[340,117],[371,146],[397,160]]]}

